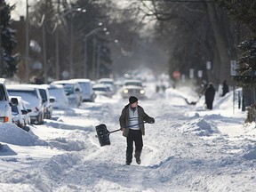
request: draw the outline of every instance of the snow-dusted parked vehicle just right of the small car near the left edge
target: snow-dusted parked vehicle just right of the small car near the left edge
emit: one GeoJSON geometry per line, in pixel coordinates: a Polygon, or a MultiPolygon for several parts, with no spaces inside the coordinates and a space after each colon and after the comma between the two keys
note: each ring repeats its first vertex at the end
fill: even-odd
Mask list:
{"type": "Polygon", "coordinates": [[[27,108],[31,109],[31,124],[44,124],[44,105],[39,89],[28,84],[6,85],[10,96],[20,96],[26,101],[27,108]]]}

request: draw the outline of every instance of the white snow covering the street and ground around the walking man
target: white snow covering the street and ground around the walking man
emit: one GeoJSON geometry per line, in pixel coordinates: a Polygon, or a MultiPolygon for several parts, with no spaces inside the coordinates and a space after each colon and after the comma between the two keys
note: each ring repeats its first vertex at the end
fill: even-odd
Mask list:
{"type": "Polygon", "coordinates": [[[244,124],[233,92],[216,95],[213,110],[205,110],[204,97],[188,87],[155,87],[147,83],[148,99],[139,100],[156,119],[146,124],[140,165],[124,164],[121,132],[110,134],[109,146],[96,137],[98,124],[119,129],[128,102],[117,93],[56,110],[29,132],[0,124],[0,191],[255,191],[255,124],[244,124]]]}

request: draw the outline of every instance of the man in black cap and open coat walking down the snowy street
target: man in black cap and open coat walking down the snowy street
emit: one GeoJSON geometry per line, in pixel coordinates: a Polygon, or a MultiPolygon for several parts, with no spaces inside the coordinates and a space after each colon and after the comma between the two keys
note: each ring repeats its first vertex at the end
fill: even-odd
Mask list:
{"type": "Polygon", "coordinates": [[[148,116],[144,109],[138,105],[138,99],[134,96],[129,98],[129,104],[124,106],[119,117],[120,129],[126,137],[126,164],[132,163],[133,141],[135,143],[135,159],[140,164],[140,154],[143,148],[142,135],[145,135],[144,123],[154,124],[155,119],[148,116]]]}

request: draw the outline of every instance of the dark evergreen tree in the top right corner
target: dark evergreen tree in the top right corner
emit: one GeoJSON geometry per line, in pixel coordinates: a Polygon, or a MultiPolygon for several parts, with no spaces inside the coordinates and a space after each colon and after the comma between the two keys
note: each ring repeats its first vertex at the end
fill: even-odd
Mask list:
{"type": "Polygon", "coordinates": [[[256,1],[218,0],[217,2],[228,10],[234,20],[252,32],[251,36],[238,46],[240,51],[238,76],[234,76],[237,84],[252,87],[256,84],[256,1]]]}

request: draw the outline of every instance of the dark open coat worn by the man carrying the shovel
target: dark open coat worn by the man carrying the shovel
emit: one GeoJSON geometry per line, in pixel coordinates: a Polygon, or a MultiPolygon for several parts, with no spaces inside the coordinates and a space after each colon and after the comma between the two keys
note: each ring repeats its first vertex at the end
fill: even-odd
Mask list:
{"type": "MultiPolygon", "coordinates": [[[[123,135],[124,137],[128,136],[129,133],[129,128],[127,128],[130,124],[129,124],[129,106],[130,104],[124,106],[123,110],[122,110],[122,114],[119,117],[119,123],[120,123],[120,127],[121,128],[125,128],[123,135]]],[[[148,116],[144,109],[140,106],[137,107],[138,108],[138,116],[139,116],[139,127],[140,127],[140,131],[142,132],[142,135],[145,135],[145,126],[143,123],[143,121],[148,122],[150,120],[150,116],[148,116]]]]}

